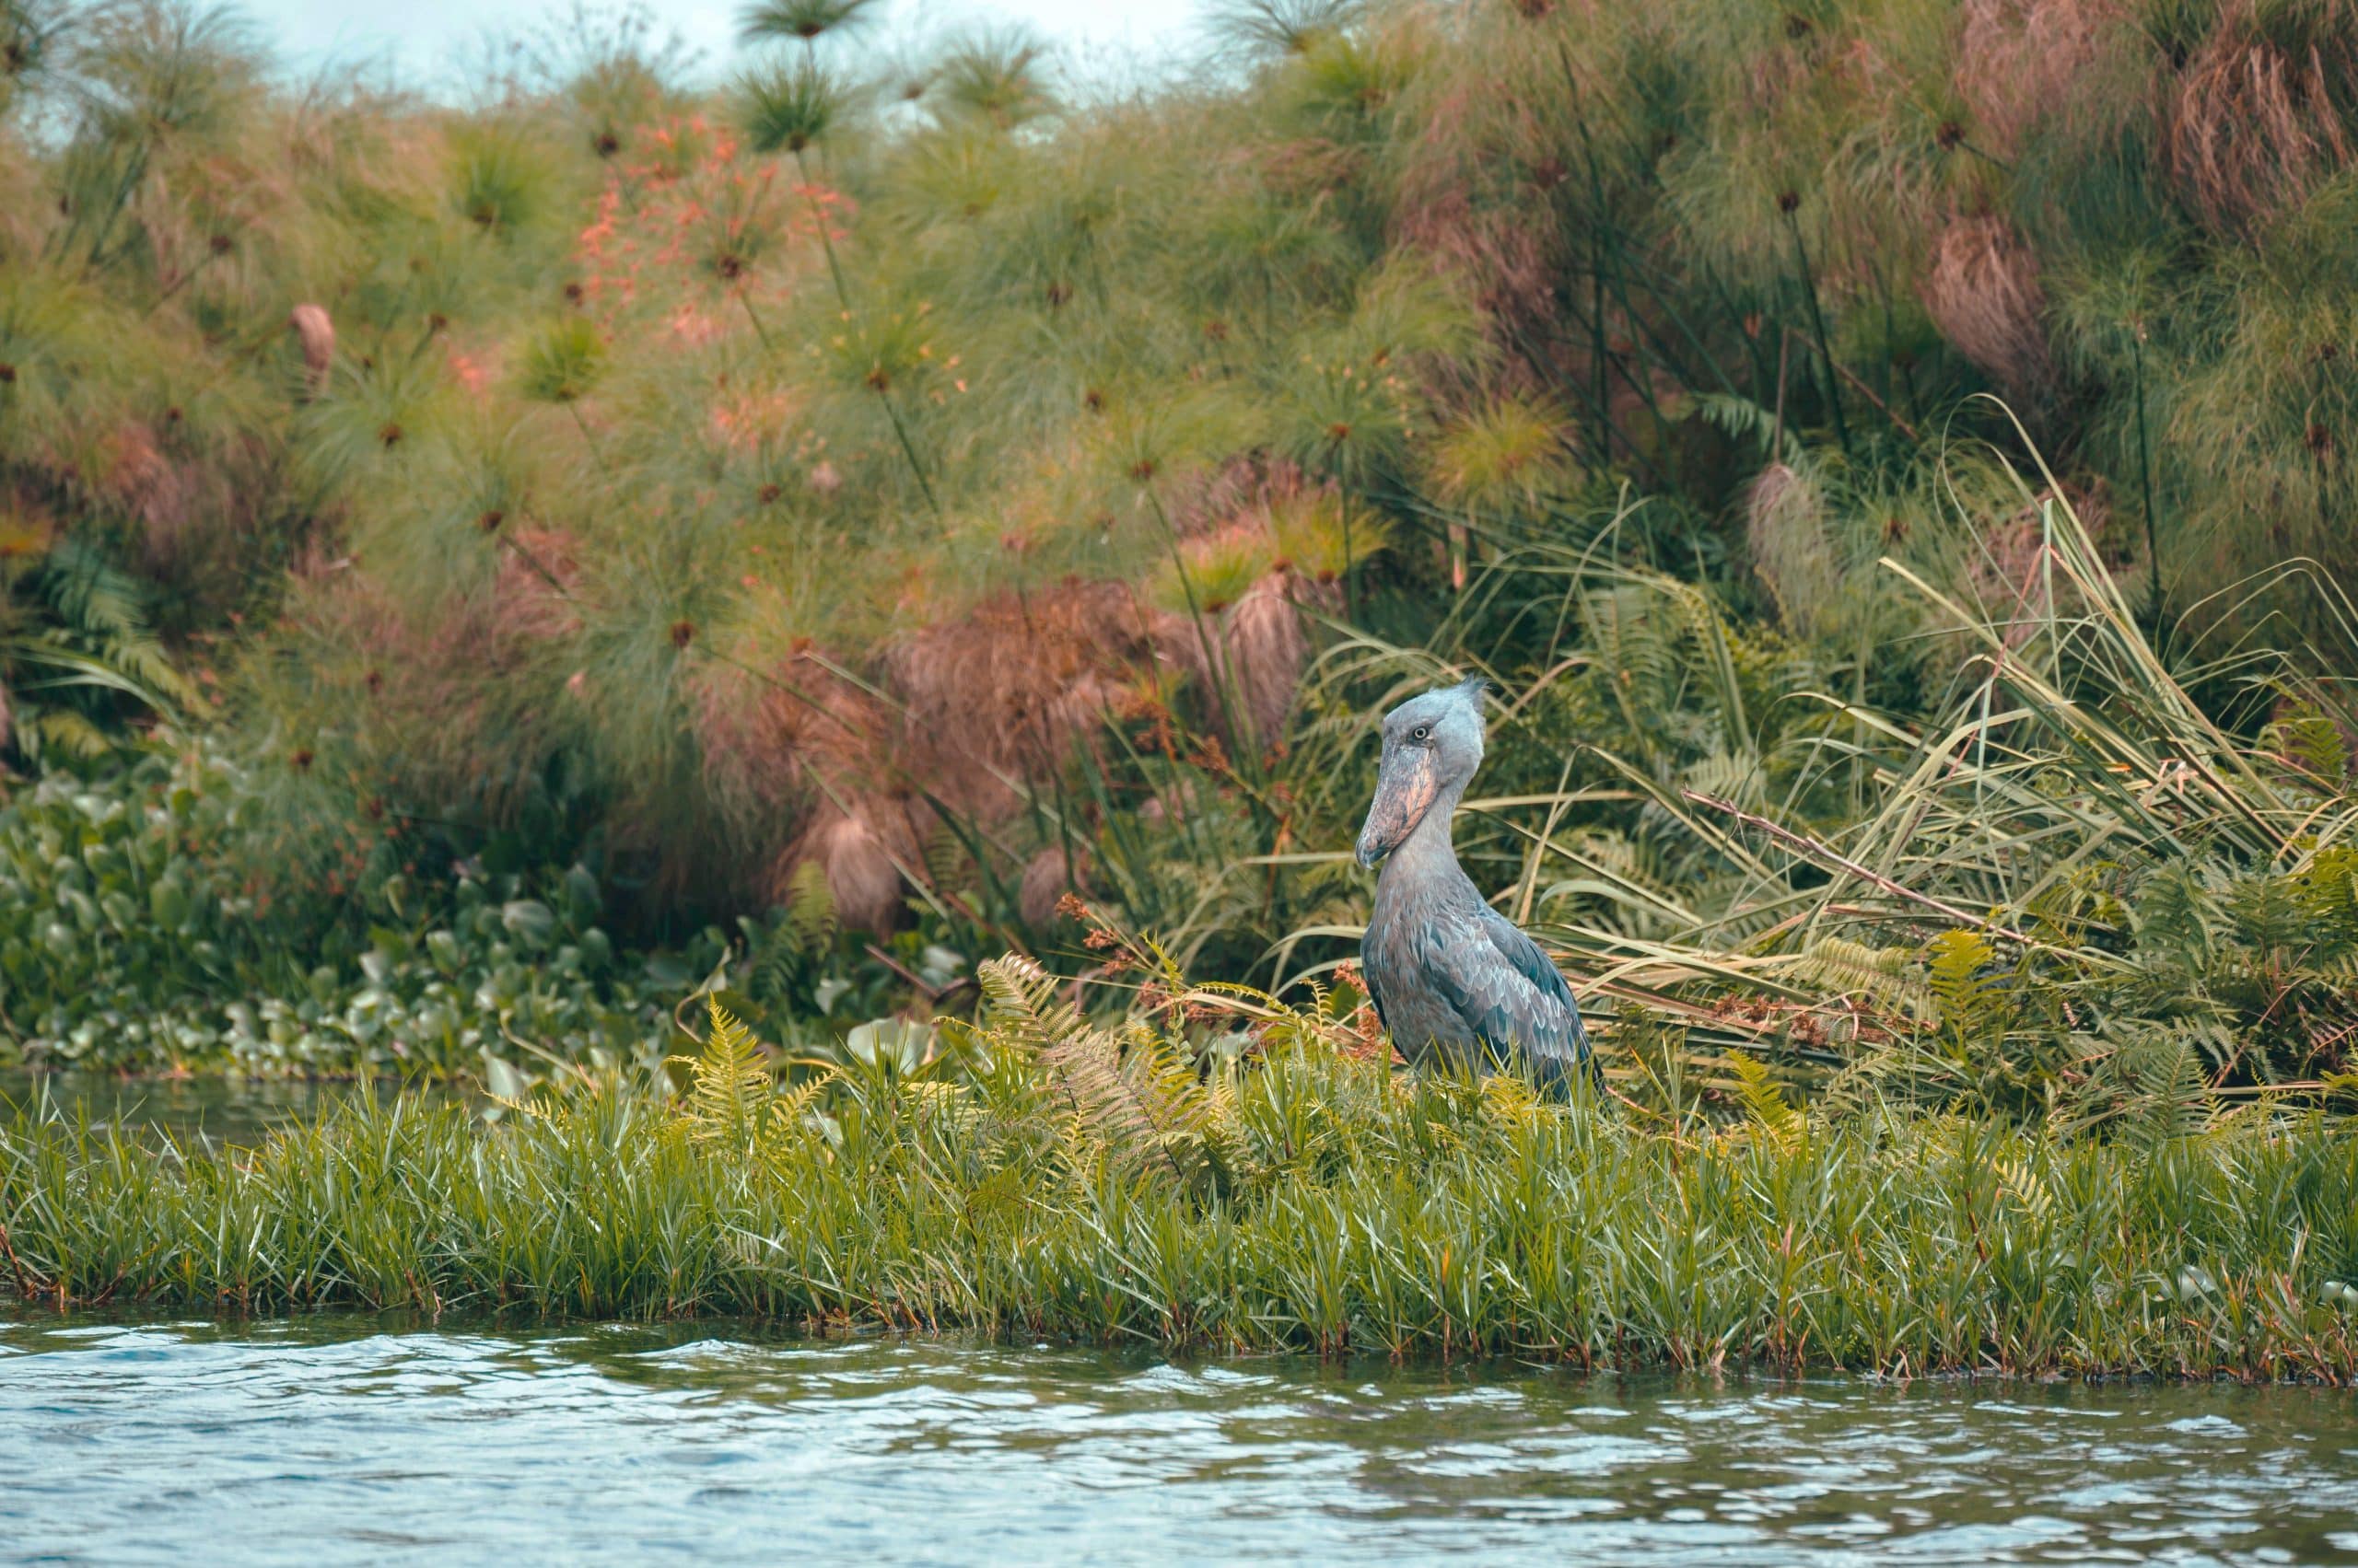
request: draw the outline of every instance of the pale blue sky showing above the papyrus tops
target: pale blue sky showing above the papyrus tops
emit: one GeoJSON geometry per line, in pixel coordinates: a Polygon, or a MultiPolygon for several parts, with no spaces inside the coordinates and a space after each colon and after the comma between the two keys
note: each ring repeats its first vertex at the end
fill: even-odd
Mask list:
{"type": "MultiPolygon", "coordinates": [[[[738,0],[585,0],[592,12],[623,5],[677,33],[707,73],[738,57],[738,0]]],[[[547,26],[571,0],[241,0],[281,64],[302,75],[321,66],[391,64],[399,80],[432,90],[457,73],[469,50],[547,26]]],[[[1155,50],[1196,47],[1205,0],[884,0],[877,42],[924,40],[974,26],[1023,26],[1059,47],[1078,71],[1120,73],[1155,50]]]]}

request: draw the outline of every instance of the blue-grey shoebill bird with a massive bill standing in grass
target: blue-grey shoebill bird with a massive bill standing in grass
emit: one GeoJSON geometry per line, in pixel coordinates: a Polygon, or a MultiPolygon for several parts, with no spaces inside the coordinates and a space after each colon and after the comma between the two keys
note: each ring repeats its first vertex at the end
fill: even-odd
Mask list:
{"type": "Polygon", "coordinates": [[[1474,677],[1384,714],[1384,762],[1358,835],[1358,863],[1384,863],[1361,969],[1412,1063],[1523,1070],[1563,1094],[1594,1070],[1573,988],[1474,891],[1450,846],[1450,813],[1481,766],[1483,689],[1474,677]]]}

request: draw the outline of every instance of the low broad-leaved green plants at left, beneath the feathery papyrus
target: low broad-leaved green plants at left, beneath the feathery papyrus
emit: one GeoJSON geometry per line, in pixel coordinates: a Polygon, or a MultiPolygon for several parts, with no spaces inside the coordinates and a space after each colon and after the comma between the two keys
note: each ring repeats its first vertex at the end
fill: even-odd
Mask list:
{"type": "MultiPolygon", "coordinates": [[[[52,773],[0,811],[0,1014],[42,1063],[483,1073],[660,1054],[670,960],[618,957],[575,868],[448,884],[387,863],[259,887],[222,842],[269,802],[208,747],[52,773]],[[533,891],[547,896],[535,898],[533,891]],[[531,1042],[528,1047],[521,1042],[531,1042]]],[[[693,953],[691,953],[693,962],[693,953]]]]}

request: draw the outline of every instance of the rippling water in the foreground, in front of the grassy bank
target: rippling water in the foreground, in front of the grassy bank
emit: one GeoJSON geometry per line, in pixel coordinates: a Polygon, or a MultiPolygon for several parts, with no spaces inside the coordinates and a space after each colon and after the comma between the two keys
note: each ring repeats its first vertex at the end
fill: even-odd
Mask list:
{"type": "Polygon", "coordinates": [[[2358,1563],[2358,1396],[0,1311],[0,1556],[2358,1563]]]}

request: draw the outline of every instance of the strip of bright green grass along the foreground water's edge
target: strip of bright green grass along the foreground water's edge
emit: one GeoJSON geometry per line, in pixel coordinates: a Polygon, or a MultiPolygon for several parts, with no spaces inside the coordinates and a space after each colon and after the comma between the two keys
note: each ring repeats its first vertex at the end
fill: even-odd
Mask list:
{"type": "Polygon", "coordinates": [[[0,1125],[7,1273],[38,1302],[231,1313],[2358,1377],[2358,1139],[2320,1115],[2096,1141],[1830,1122],[1761,1094],[1733,1122],[1660,1125],[1511,1080],[1408,1080],[1299,1016],[1207,1068],[1188,1127],[1073,1111],[1075,1059],[1014,1014],[915,1073],[771,1092],[740,1066],[710,1054],[686,1099],[578,1085],[495,1127],[361,1094],[252,1151],[19,1111],[0,1125]],[[1162,1158],[1181,1148],[1207,1158],[1162,1158]]]}

